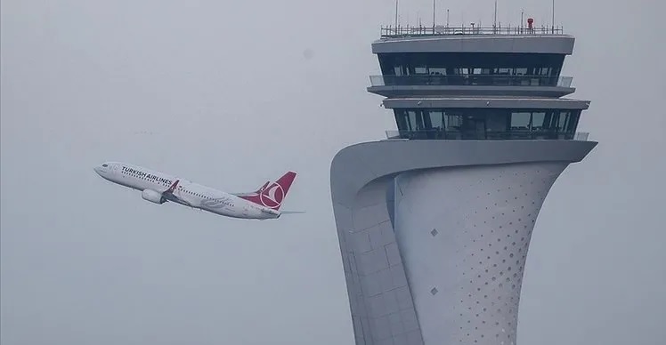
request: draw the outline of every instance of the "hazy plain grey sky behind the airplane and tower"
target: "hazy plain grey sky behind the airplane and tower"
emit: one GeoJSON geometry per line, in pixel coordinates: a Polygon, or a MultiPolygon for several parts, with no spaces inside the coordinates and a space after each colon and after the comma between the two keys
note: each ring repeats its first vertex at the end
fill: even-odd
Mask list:
{"type": "MultiPolygon", "coordinates": [[[[432,20],[402,0],[401,20],[432,20]]],[[[438,3],[491,24],[493,1],[438,3]],[[464,3],[464,4],[463,4],[464,3]]],[[[600,141],[556,181],[525,268],[518,343],[666,338],[664,47],[657,0],[560,0],[564,75],[600,141]]],[[[537,25],[550,1],[500,1],[537,25]]],[[[394,129],[371,42],[392,0],[3,0],[0,342],[353,344],[329,194],[337,150],[394,129]],[[151,205],[93,165],[211,187],[299,173],[285,207],[240,221],[151,205]]]]}

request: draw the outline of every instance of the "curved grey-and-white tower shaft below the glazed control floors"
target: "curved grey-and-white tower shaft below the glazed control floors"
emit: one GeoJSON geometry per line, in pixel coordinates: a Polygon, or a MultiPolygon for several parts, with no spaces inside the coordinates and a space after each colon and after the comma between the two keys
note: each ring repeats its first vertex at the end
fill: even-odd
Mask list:
{"type": "Polygon", "coordinates": [[[509,345],[533,221],[557,176],[596,145],[382,140],[340,150],[331,198],[356,343],[509,345]]]}

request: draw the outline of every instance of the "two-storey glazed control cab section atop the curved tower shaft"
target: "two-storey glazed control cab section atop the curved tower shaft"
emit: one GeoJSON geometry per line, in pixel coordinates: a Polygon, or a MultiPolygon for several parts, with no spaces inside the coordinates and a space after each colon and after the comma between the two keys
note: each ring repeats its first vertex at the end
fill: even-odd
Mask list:
{"type": "Polygon", "coordinates": [[[587,100],[562,76],[574,37],[560,28],[382,28],[372,44],[397,133],[419,140],[586,140],[587,100]]]}

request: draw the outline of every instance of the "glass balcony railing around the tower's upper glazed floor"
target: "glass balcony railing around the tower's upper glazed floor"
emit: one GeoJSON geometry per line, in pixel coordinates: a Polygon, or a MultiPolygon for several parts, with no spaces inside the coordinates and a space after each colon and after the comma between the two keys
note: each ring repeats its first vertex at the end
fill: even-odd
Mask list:
{"type": "Polygon", "coordinates": [[[410,75],[370,76],[372,86],[558,86],[571,87],[573,76],[410,75]]]}

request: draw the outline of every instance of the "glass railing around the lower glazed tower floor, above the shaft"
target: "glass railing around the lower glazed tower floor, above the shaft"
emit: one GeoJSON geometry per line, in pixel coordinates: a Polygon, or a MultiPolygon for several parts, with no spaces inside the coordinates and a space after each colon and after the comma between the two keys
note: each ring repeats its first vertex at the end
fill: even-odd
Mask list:
{"type": "Polygon", "coordinates": [[[402,140],[588,140],[589,132],[557,132],[557,131],[506,131],[476,132],[444,131],[429,129],[419,131],[386,131],[387,139],[402,140]]]}

